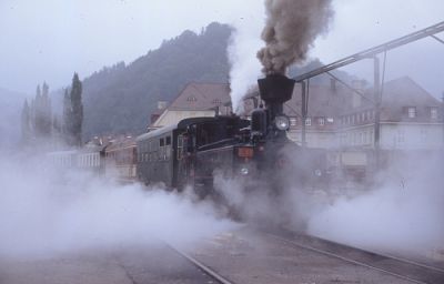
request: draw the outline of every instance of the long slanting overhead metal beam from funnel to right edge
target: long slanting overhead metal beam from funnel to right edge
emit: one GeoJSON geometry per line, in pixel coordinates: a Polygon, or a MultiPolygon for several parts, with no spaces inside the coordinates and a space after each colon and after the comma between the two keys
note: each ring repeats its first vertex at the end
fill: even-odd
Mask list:
{"type": "Polygon", "coordinates": [[[340,60],[337,60],[337,61],[335,61],[333,63],[330,63],[327,65],[314,69],[314,70],[312,70],[310,72],[306,72],[304,74],[297,75],[297,77],[295,77],[293,79],[296,82],[302,82],[302,81],[307,80],[307,79],[310,79],[312,77],[316,77],[316,75],[320,75],[322,73],[332,71],[334,69],[337,69],[337,68],[341,68],[341,67],[344,67],[344,65],[349,65],[349,64],[357,62],[360,60],[373,58],[376,54],[380,54],[382,52],[385,52],[385,51],[389,51],[389,50],[392,50],[392,49],[395,49],[395,48],[398,48],[398,47],[402,47],[402,45],[411,43],[413,41],[417,41],[417,40],[421,40],[421,39],[424,39],[424,38],[427,38],[427,37],[433,37],[434,39],[436,39],[436,37],[434,37],[434,34],[436,34],[438,32],[442,32],[442,31],[444,31],[444,21],[442,21],[440,23],[436,23],[434,26],[431,26],[428,28],[425,28],[423,30],[410,33],[407,36],[397,38],[395,40],[385,42],[383,44],[366,49],[366,50],[361,51],[361,52],[357,52],[357,53],[355,53],[353,55],[340,59],[340,60]]]}

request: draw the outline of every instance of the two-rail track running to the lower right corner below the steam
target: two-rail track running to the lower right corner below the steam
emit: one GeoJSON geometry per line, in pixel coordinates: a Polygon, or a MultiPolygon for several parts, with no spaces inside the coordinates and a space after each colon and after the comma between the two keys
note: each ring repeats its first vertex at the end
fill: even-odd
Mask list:
{"type": "Polygon", "coordinates": [[[289,246],[295,246],[323,254],[329,257],[375,270],[390,274],[411,283],[442,284],[444,283],[444,268],[391,256],[369,252],[349,245],[335,243],[315,236],[303,235],[289,230],[266,232],[274,240],[289,246]]]}

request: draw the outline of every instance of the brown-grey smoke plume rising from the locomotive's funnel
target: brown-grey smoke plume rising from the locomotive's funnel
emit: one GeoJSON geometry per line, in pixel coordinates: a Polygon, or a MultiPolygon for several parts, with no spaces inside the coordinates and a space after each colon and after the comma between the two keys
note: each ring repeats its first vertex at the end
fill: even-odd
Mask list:
{"type": "Polygon", "coordinates": [[[266,0],[266,47],[258,52],[265,74],[284,74],[305,60],[315,38],[325,32],[333,17],[332,0],[266,0]]]}

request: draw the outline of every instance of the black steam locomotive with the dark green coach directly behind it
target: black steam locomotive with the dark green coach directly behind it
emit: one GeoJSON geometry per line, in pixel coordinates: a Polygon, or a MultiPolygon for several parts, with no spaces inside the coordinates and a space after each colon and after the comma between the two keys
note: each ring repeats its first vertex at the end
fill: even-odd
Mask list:
{"type": "Polygon", "coordinates": [[[138,179],[170,189],[191,185],[204,196],[215,172],[262,181],[272,189],[284,186],[287,178],[301,183],[321,176],[322,159],[302,159],[305,151],[285,134],[290,121],[283,103],[291,99],[294,83],[280,74],[259,80],[265,108],[254,110],[251,121],[236,115],[192,118],[139,136],[138,179]]]}

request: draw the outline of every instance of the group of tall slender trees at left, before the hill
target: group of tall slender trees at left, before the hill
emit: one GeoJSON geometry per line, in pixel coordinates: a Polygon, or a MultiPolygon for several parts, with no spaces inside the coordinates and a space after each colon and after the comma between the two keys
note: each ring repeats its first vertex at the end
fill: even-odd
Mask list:
{"type": "Polygon", "coordinates": [[[83,103],[82,82],[78,73],[70,89],[64,90],[62,116],[53,114],[49,85],[37,87],[36,97],[24,100],[21,112],[22,143],[29,145],[42,140],[59,140],[68,146],[82,144],[83,103]]]}

